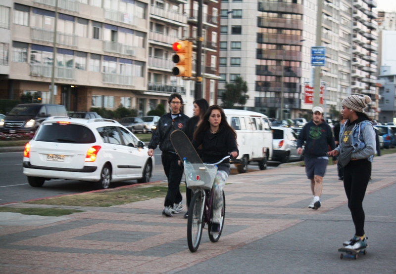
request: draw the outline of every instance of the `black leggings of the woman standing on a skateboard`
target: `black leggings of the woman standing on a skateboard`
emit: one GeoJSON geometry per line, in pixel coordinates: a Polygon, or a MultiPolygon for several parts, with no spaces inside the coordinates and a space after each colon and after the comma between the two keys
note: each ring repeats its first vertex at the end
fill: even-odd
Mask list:
{"type": "Polygon", "coordinates": [[[371,162],[367,159],[350,161],[344,167],[344,188],[357,236],[364,235],[363,199],[370,176],[371,162]]]}

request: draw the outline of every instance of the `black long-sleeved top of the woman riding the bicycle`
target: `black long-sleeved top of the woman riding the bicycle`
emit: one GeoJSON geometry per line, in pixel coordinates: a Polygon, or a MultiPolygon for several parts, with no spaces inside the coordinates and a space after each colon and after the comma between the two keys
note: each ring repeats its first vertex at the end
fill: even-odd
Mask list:
{"type": "MultiPolygon", "coordinates": [[[[237,142],[231,131],[221,127],[219,131],[212,134],[209,129],[197,135],[193,140],[193,145],[197,149],[202,145],[202,161],[204,163],[215,163],[226,157],[231,152],[238,151],[237,142]]],[[[229,159],[225,159],[223,163],[229,163],[229,159]]]]}

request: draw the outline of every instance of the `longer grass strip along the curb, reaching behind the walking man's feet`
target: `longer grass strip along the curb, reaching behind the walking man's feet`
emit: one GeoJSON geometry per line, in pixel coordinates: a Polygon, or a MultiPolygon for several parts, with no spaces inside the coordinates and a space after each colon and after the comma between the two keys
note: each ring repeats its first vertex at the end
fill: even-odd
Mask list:
{"type": "MultiPolygon", "coordinates": [[[[35,201],[28,201],[29,204],[48,204],[48,205],[69,205],[69,206],[94,206],[108,207],[145,201],[153,198],[165,197],[168,191],[167,186],[133,187],[110,189],[94,193],[82,193],[53,198],[46,198],[35,201]]],[[[180,192],[186,192],[184,184],[180,185],[180,192]]]]}

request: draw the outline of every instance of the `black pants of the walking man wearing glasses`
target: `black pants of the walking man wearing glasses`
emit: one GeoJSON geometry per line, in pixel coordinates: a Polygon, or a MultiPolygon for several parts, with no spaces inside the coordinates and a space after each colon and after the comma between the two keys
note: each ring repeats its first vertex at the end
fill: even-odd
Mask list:
{"type": "Polygon", "coordinates": [[[168,178],[168,193],[165,197],[165,206],[173,207],[173,203],[182,201],[180,181],[183,176],[183,166],[177,163],[178,160],[180,160],[180,158],[177,154],[164,152],[161,155],[165,175],[168,178]]]}

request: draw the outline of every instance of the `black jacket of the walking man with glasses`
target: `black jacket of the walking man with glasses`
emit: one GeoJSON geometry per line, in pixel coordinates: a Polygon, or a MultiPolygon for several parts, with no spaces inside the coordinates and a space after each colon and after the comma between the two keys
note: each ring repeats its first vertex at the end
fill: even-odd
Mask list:
{"type": "Polygon", "coordinates": [[[159,144],[162,152],[175,152],[170,141],[170,134],[176,129],[184,130],[188,119],[189,117],[183,113],[179,113],[174,120],[170,113],[162,115],[158,120],[157,129],[151,136],[148,148],[155,149],[159,144]]]}

